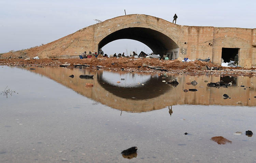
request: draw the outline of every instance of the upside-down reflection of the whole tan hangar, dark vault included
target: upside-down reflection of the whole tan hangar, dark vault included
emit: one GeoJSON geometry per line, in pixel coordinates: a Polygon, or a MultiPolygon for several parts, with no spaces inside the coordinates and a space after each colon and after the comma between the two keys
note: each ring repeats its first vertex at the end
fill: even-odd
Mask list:
{"type": "MultiPolygon", "coordinates": [[[[256,83],[256,77],[239,76],[236,79],[236,86],[228,88],[212,88],[207,87],[205,80],[210,82],[220,81],[220,76],[177,76],[179,85],[173,87],[171,85],[161,82],[162,80],[170,80],[171,77],[162,79],[155,74],[132,73],[132,75],[145,75],[143,80],[144,86],[134,87],[118,87],[114,78],[119,78],[126,72],[113,72],[113,84],[104,79],[104,72],[102,70],[92,71],[89,69],[67,69],[67,68],[36,68],[33,72],[47,76],[56,82],[73,89],[79,94],[88,98],[94,99],[104,105],[115,109],[130,111],[130,112],[144,112],[164,108],[172,105],[243,105],[256,106],[256,90],[253,84],[256,83]],[[73,74],[74,78],[69,75],[73,74]],[[94,79],[81,79],[81,74],[94,74],[94,79]],[[147,76],[150,75],[150,78],[147,76]],[[191,81],[196,80],[196,86],[187,85],[191,81]],[[94,87],[87,88],[85,83],[93,83],[94,87]],[[242,83],[242,84],[241,84],[242,83]],[[245,87],[238,87],[244,85],[245,87]],[[250,87],[250,88],[246,88],[250,87]],[[196,92],[183,92],[183,89],[195,88],[196,92]],[[244,89],[245,88],[245,89],[244,89]],[[223,94],[228,94],[230,99],[223,99],[223,94]],[[132,98],[136,97],[136,98],[132,98]],[[239,102],[240,101],[240,102],[239,102]],[[239,102],[239,103],[238,103],[239,102]]],[[[106,73],[108,74],[108,73],[106,73]]],[[[129,75],[128,75],[129,76],[129,75]]],[[[128,80],[128,79],[126,79],[128,80]]],[[[226,80],[226,79],[225,79],[226,80]]],[[[122,80],[119,80],[122,83],[122,80]]]]}

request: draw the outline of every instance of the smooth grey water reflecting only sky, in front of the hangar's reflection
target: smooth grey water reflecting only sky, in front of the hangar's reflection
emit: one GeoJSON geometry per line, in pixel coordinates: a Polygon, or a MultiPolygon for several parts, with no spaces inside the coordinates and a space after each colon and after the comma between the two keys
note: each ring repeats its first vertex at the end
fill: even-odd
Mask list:
{"type": "MultiPolygon", "coordinates": [[[[0,96],[0,162],[256,162],[254,135],[245,135],[256,131],[255,107],[175,105],[172,111],[122,111],[31,72],[0,69],[5,76],[0,88],[8,85],[18,92],[0,96]],[[234,135],[237,131],[242,134],[234,135]],[[219,145],[211,140],[216,136],[232,143],[219,145]],[[129,160],[120,153],[131,146],[138,151],[129,160]]],[[[94,92],[102,86],[83,89],[94,92]]]]}

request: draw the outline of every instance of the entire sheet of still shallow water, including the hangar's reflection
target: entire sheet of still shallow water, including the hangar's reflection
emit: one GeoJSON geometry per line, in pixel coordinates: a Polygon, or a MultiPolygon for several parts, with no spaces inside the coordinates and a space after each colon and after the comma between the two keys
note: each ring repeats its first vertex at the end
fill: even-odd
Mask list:
{"type": "Polygon", "coordinates": [[[18,93],[0,96],[1,163],[256,162],[255,135],[245,135],[256,132],[255,77],[51,67],[3,67],[0,75],[0,91],[18,93]],[[162,82],[175,78],[176,87],[162,82]],[[196,86],[186,84],[193,80],[196,86]],[[232,86],[207,87],[218,81],[232,86]],[[191,88],[198,91],[183,92],[191,88]],[[215,136],[232,143],[218,145],[215,136]],[[137,153],[124,158],[132,146],[137,153]]]}

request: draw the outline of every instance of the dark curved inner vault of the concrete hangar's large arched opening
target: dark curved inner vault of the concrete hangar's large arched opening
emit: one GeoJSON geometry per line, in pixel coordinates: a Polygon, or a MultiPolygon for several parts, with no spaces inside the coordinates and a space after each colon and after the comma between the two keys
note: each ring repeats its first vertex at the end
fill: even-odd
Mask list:
{"type": "Polygon", "coordinates": [[[98,50],[106,44],[118,39],[132,39],[144,43],[154,54],[169,58],[177,58],[179,46],[167,35],[149,28],[133,27],[115,31],[98,43],[98,50]]]}

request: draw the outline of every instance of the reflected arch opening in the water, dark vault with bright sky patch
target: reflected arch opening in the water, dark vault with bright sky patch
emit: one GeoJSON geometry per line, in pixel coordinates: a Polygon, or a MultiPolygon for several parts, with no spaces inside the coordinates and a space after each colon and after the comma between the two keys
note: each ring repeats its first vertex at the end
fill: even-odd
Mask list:
{"type": "Polygon", "coordinates": [[[162,82],[162,78],[158,75],[99,71],[97,79],[102,88],[118,97],[127,99],[155,98],[171,89],[169,85],[162,82]],[[120,78],[125,80],[120,80],[120,78]],[[117,81],[121,82],[117,83],[117,81]]]}

